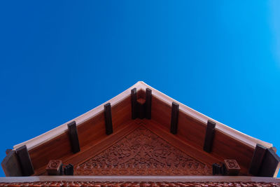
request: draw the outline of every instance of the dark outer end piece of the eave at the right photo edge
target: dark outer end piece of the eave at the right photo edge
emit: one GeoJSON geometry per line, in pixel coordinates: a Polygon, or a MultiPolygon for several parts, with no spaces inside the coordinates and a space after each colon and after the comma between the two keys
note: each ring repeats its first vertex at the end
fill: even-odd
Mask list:
{"type": "Polygon", "coordinates": [[[262,159],[262,165],[260,166],[258,176],[276,177],[280,167],[279,162],[280,158],[276,155],[273,148],[267,148],[265,156],[262,159]]]}

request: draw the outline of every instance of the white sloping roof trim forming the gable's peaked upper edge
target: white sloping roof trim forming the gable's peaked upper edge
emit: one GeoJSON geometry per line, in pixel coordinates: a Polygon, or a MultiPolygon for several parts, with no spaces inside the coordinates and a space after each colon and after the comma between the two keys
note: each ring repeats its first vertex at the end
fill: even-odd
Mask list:
{"type": "MultiPolygon", "coordinates": [[[[202,113],[195,111],[194,109],[191,109],[190,107],[181,104],[180,102],[177,102],[176,100],[172,99],[171,97],[168,97],[167,95],[163,94],[162,92],[155,90],[155,88],[152,88],[151,86],[147,85],[143,81],[137,82],[135,85],[132,85],[132,87],[128,88],[124,92],[121,92],[119,95],[116,97],[113,97],[110,99],[108,102],[111,103],[111,106],[114,106],[118,104],[118,102],[123,101],[126,97],[130,96],[132,88],[137,88],[137,90],[143,89],[145,90],[146,88],[150,88],[152,90],[152,94],[155,97],[158,97],[158,99],[161,99],[163,102],[166,102],[168,104],[172,104],[172,102],[176,102],[179,104],[179,109],[183,111],[184,113],[187,113],[188,115],[192,116],[193,118],[196,118],[197,120],[202,121],[203,123],[207,123],[207,120],[213,120],[202,113]]],[[[104,104],[108,103],[105,102],[104,104]]],[[[85,122],[86,120],[89,120],[90,118],[93,118],[97,114],[101,113],[104,111],[104,104],[101,104],[94,109],[88,111],[87,113],[84,113],[81,116],[78,116],[77,118],[74,118],[73,120],[76,121],[77,125],[80,125],[81,123],[85,122]]],[[[39,146],[43,144],[45,141],[48,141],[50,139],[53,139],[60,134],[63,134],[68,130],[67,124],[70,123],[70,120],[62,125],[59,125],[58,127],[55,127],[54,129],[45,132],[44,134],[39,135],[38,137],[34,137],[33,139],[29,139],[25,142],[22,142],[21,144],[13,146],[14,149],[19,148],[20,146],[26,145],[27,149],[34,148],[36,146],[39,146]]],[[[243,142],[244,144],[251,146],[252,148],[255,148],[256,144],[261,144],[262,146],[265,146],[267,148],[272,147],[272,144],[269,144],[265,141],[261,141],[259,139],[255,139],[253,137],[248,136],[247,134],[244,134],[242,132],[239,132],[235,129],[232,129],[231,127],[228,127],[227,125],[224,125],[223,123],[220,123],[216,120],[213,120],[216,123],[216,128],[218,130],[221,130],[223,133],[227,134],[228,136],[237,139],[238,141],[243,142]]]]}

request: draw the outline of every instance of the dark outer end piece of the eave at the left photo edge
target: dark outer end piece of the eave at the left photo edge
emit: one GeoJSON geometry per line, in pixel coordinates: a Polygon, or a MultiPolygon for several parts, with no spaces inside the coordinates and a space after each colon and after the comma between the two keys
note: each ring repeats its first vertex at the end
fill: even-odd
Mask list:
{"type": "Polygon", "coordinates": [[[6,176],[22,176],[22,168],[18,160],[18,155],[13,150],[8,152],[1,162],[1,166],[6,176]]]}

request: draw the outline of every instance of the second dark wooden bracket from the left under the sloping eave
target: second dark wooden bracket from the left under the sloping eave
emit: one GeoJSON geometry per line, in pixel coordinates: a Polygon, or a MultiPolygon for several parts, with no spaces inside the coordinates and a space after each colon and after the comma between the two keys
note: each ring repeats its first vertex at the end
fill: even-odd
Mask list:
{"type": "Polygon", "coordinates": [[[78,153],[80,151],[80,143],[78,141],[78,131],[77,131],[76,121],[72,121],[71,123],[68,123],[67,126],[68,126],[71,150],[73,153],[78,153]]]}

